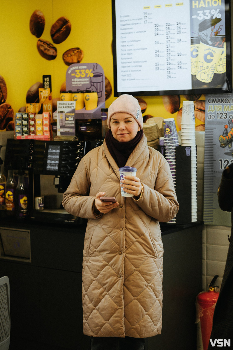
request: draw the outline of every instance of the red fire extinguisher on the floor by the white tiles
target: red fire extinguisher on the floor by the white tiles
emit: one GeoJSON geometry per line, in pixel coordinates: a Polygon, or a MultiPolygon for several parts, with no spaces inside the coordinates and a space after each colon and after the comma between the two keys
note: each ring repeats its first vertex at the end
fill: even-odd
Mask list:
{"type": "Polygon", "coordinates": [[[209,285],[208,292],[201,292],[197,296],[197,350],[207,350],[213,324],[213,314],[219,292],[214,283],[218,275],[215,275],[209,285]]]}

